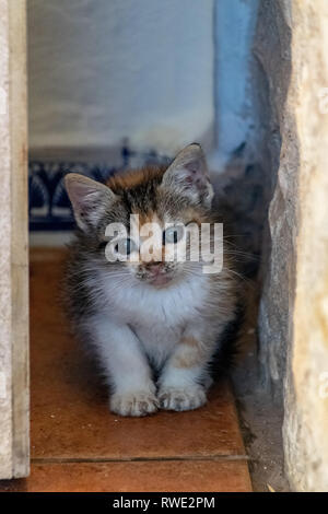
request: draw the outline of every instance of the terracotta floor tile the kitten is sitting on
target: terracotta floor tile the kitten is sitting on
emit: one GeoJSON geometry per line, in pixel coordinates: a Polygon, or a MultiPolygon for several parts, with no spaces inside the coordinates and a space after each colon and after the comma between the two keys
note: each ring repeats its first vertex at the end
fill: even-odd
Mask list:
{"type": "Polygon", "coordinates": [[[243,455],[233,395],[218,385],[196,411],[142,419],[109,413],[107,392],[59,307],[60,253],[32,255],[32,457],[160,458],[243,455]],[[54,256],[54,260],[51,259],[54,256]]]}

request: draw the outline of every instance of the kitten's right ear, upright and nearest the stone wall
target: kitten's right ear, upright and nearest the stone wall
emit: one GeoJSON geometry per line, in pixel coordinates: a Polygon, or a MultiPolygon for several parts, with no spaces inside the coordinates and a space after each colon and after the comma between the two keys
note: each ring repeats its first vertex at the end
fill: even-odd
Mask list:
{"type": "Polygon", "coordinates": [[[211,207],[213,187],[209,179],[203,151],[197,143],[181,150],[163,176],[162,185],[171,188],[191,202],[211,207]]]}

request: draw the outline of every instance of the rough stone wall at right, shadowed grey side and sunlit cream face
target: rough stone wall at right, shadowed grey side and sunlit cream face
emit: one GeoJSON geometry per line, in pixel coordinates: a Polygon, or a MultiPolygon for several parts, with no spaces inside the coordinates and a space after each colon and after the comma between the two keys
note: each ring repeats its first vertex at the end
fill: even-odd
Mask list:
{"type": "Polygon", "coordinates": [[[262,375],[276,399],[283,397],[292,489],[327,491],[327,1],[261,2],[256,54],[267,83],[267,156],[276,177],[259,317],[262,375]]]}

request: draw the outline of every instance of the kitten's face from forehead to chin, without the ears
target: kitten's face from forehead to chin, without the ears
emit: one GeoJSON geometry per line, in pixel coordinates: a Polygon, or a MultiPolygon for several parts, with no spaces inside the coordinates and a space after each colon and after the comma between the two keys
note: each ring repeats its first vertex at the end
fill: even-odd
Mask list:
{"type": "MultiPolygon", "coordinates": [[[[178,198],[174,203],[179,211],[167,208],[165,191],[154,191],[155,208],[144,212],[136,208],[127,209],[134,227],[126,226],[126,234],[109,240],[109,249],[120,252],[125,267],[138,281],[156,288],[166,287],[172,281],[186,274],[195,264],[187,260],[186,249],[189,249],[187,230],[190,223],[197,223],[200,213],[191,208],[179,207],[178,198]]],[[[171,197],[171,200],[173,198],[171,197]]]]}

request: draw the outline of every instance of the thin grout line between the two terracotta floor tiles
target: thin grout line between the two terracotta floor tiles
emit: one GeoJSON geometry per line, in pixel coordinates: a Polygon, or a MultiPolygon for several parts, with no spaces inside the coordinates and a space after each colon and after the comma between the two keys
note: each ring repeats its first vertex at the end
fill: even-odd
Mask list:
{"type": "Polygon", "coordinates": [[[102,457],[35,457],[32,464],[106,464],[106,463],[151,463],[151,462],[234,462],[250,460],[248,455],[190,455],[186,457],[131,457],[131,458],[102,458],[102,457]]]}

